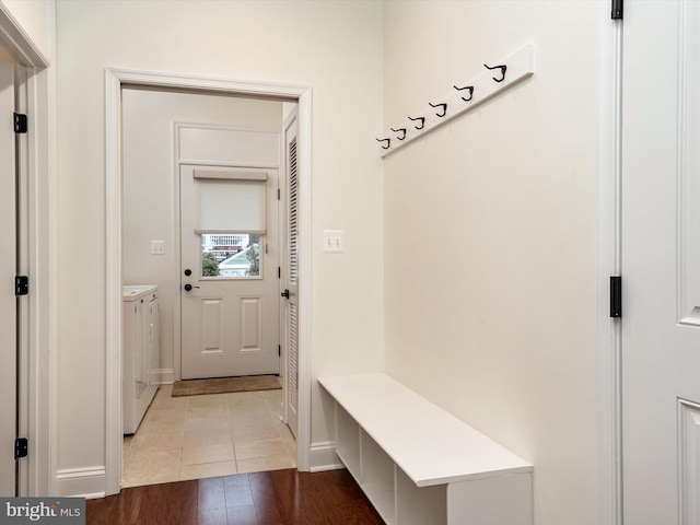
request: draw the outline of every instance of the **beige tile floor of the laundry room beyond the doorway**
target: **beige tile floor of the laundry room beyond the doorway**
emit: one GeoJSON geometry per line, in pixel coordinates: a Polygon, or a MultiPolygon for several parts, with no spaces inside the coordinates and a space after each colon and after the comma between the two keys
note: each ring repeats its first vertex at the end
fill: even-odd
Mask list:
{"type": "Polygon", "coordinates": [[[171,397],[159,388],[124,438],[124,487],[293,468],[296,443],[280,421],[282,390],[171,397]]]}

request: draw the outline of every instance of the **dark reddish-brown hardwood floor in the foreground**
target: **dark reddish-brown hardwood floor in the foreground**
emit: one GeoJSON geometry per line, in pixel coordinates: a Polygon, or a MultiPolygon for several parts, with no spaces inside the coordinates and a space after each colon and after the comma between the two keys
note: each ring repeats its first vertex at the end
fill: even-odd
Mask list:
{"type": "Polygon", "coordinates": [[[132,487],[88,500],[86,525],[382,525],[347,470],[295,469],[132,487]]]}

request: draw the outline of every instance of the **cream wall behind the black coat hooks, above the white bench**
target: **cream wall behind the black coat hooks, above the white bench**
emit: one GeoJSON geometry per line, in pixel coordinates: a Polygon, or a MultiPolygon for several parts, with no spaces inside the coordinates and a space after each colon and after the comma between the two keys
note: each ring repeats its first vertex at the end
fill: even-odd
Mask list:
{"type": "Polygon", "coordinates": [[[527,43],[533,78],[385,161],[386,369],[596,510],[597,2],[386,2],[385,129],[527,43]]]}

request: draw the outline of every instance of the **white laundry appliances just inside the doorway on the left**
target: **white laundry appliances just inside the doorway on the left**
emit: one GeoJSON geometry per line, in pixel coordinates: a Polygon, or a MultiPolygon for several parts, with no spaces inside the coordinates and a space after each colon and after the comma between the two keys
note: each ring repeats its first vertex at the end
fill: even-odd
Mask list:
{"type": "Polygon", "coordinates": [[[161,368],[158,287],[122,291],[121,406],[124,433],[133,434],[158,392],[161,368]]]}

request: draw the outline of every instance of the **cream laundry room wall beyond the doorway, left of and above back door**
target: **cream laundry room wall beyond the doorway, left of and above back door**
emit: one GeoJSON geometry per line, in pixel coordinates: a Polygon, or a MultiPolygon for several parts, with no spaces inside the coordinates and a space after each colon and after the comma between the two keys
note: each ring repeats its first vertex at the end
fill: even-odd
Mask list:
{"type": "MultiPolygon", "coordinates": [[[[121,97],[124,148],[122,280],[158,284],[161,368],[173,377],[176,302],[179,302],[179,242],[175,235],[178,185],[174,122],[282,129],[282,103],[226,96],[126,89],[121,97]],[[151,255],[151,241],[165,255],[151,255]]],[[[175,376],[175,378],[179,378],[175,376]]]]}

